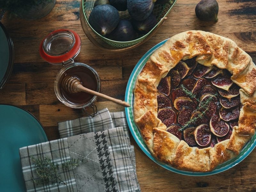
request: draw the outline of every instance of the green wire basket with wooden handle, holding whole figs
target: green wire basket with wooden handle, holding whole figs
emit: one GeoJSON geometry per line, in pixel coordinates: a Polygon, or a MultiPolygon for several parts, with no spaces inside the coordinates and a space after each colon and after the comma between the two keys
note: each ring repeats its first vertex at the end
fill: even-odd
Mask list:
{"type": "MultiPolygon", "coordinates": [[[[153,36],[156,33],[158,28],[162,26],[164,21],[167,19],[166,16],[171,11],[173,5],[176,3],[176,0],[173,0],[172,4],[155,4],[153,13],[154,15],[156,15],[156,19],[157,19],[156,26],[152,28],[146,35],[137,34],[136,38],[132,41],[120,42],[120,41],[113,41],[104,36],[101,36],[89,24],[88,22],[89,15],[93,9],[93,5],[95,1],[96,0],[81,0],[81,5],[80,5],[81,25],[85,35],[92,42],[92,44],[94,44],[101,50],[110,51],[110,52],[126,51],[128,49],[135,48],[145,43],[151,36],[153,36]],[[88,27],[91,29],[91,32],[95,34],[96,38],[91,35],[91,32],[89,31],[88,27]]],[[[119,12],[119,16],[120,16],[120,19],[125,19],[125,20],[131,19],[131,16],[127,10],[123,12],[119,12]]]]}

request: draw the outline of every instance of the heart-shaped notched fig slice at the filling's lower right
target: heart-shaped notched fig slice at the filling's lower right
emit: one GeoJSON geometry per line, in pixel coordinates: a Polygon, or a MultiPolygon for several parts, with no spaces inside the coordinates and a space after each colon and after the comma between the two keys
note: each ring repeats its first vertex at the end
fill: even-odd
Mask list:
{"type": "Polygon", "coordinates": [[[214,135],[223,137],[228,134],[229,125],[223,121],[219,121],[219,116],[214,115],[210,120],[210,128],[214,135]]]}

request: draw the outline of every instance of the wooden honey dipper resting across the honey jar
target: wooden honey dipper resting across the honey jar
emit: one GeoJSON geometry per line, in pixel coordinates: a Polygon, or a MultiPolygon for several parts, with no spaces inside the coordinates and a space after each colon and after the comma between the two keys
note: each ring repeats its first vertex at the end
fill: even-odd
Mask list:
{"type": "Polygon", "coordinates": [[[91,89],[84,87],[82,85],[80,79],[78,79],[77,77],[67,76],[63,79],[61,85],[66,91],[68,91],[70,93],[87,92],[89,94],[104,98],[106,100],[110,100],[110,101],[117,103],[119,105],[122,105],[124,107],[130,107],[130,104],[125,101],[122,101],[120,99],[115,99],[108,95],[105,95],[105,94],[102,94],[102,93],[99,93],[99,92],[96,92],[96,91],[93,91],[91,89]]]}

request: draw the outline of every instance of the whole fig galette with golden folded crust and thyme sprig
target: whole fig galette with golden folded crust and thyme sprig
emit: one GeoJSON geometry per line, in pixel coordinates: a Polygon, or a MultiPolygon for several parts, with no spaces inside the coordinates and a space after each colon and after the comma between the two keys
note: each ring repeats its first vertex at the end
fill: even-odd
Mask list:
{"type": "Polygon", "coordinates": [[[255,90],[256,66],[236,43],[186,31],[157,49],[137,77],[134,120],[158,160],[209,172],[255,133],[255,90]]]}

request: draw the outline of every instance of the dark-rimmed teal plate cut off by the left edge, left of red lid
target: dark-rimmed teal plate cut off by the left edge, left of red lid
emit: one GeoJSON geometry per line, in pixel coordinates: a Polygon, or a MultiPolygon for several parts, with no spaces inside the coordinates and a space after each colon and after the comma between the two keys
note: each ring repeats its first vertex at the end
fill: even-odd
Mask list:
{"type": "MultiPolygon", "coordinates": [[[[1,16],[0,16],[1,19],[1,16]]],[[[12,72],[14,50],[11,38],[8,36],[3,24],[0,22],[0,89],[12,72]]]]}

